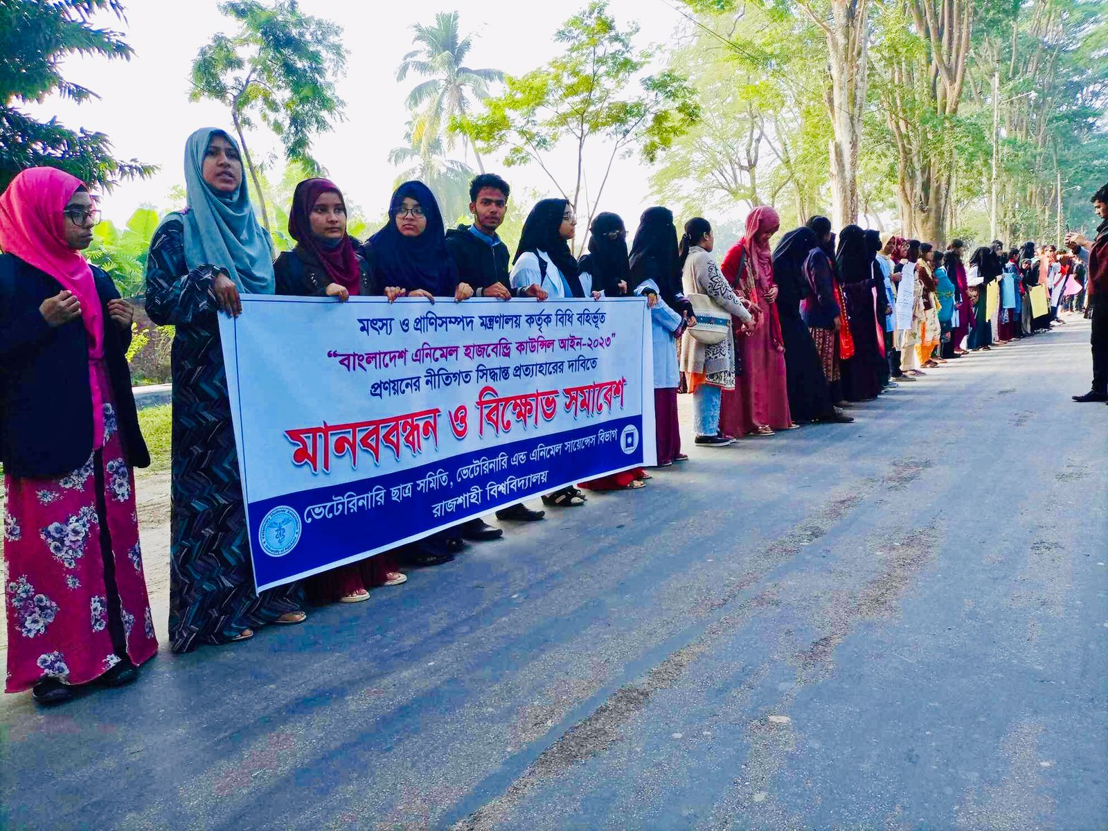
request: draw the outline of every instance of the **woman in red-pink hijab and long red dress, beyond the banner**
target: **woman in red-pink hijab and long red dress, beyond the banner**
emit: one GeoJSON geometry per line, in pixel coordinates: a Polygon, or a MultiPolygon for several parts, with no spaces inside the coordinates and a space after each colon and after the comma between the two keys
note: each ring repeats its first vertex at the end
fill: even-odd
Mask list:
{"type": "Polygon", "coordinates": [[[777,212],[760,205],[747,214],[747,233],[724,258],[721,270],[750,302],[753,329],[736,327],[739,377],[733,392],[724,392],[719,429],[731,435],[772,435],[796,424],[789,414],[784,345],[777,314],[777,285],[769,239],[781,227],[777,212]]]}

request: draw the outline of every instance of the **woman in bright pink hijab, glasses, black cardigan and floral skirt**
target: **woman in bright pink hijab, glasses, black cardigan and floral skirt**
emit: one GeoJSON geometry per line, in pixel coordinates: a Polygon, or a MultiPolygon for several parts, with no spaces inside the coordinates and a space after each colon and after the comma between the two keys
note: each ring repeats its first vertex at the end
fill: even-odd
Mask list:
{"type": "Polygon", "coordinates": [[[129,684],[157,652],[131,473],[150,464],[125,357],[134,312],[80,254],[96,222],[62,171],[23,171],[0,196],[6,688],[41,704],[129,684]]]}

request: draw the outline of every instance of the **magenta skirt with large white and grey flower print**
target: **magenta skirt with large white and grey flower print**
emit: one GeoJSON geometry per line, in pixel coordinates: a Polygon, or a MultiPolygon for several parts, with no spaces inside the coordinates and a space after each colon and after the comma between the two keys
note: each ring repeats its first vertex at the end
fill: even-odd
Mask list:
{"type": "MultiPolygon", "coordinates": [[[[111,389],[103,375],[101,389],[111,389]]],[[[48,676],[88,684],[124,650],[136,666],[157,652],[134,478],[110,401],[104,433],[103,449],[63,476],[4,476],[8,693],[48,676]]]]}

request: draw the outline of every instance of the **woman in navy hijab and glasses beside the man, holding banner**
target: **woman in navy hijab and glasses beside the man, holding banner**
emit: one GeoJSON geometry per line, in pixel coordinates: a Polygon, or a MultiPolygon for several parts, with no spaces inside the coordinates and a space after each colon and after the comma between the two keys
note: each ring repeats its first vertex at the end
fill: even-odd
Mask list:
{"type": "MultiPolygon", "coordinates": [[[[362,258],[378,275],[380,294],[393,302],[418,297],[434,302],[453,297],[458,266],[447,250],[439,203],[422,182],[404,182],[389,201],[389,218],[361,247],[362,258]]],[[[456,529],[439,531],[409,543],[400,556],[417,566],[449,563],[465,543],[456,529]]]]}

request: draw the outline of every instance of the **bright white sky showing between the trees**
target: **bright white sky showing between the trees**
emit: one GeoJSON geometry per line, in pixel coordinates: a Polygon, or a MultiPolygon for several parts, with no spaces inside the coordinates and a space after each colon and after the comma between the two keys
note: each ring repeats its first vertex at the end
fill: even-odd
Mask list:
{"type": "MultiPolygon", "coordinates": [[[[386,155],[403,144],[409,117],[404,99],[420,80],[409,75],[402,84],[396,81],[401,57],[413,48],[409,27],[417,21],[432,23],[435,12],[458,10],[462,31],[474,35],[468,63],[522,74],[554,55],[555,29],[585,4],[586,0],[428,0],[418,4],[301,0],[306,12],[342,27],[348,52],[346,76],[338,83],[347,102],[347,120],[317,138],[316,158],[367,217],[382,215],[398,173],[386,155]]],[[[670,40],[681,23],[680,16],[663,0],[611,0],[609,9],[620,24],[639,23],[640,47],[670,40]]],[[[125,62],[73,57],[65,64],[66,76],[99,93],[101,100],[75,105],[51,99],[30,109],[41,117],[57,115],[70,127],[106,133],[117,157],[161,165],[153,178],[124,183],[106,195],[102,208],[107,218],[125,220],[142,204],[161,209],[179,207],[171,204],[168,194],[173,186],[183,184],[185,137],[201,126],[230,127],[222,105],[188,101],[189,66],[196,51],[214,32],[230,33],[230,21],[219,14],[217,0],[127,0],[125,23],[111,16],[98,22],[122,29],[135,50],[134,58],[125,62]]],[[[256,157],[275,157],[276,142],[265,129],[256,130],[247,141],[256,157]]],[[[459,145],[455,155],[461,152],[459,145]]],[[[560,161],[571,164],[573,158],[560,161]]],[[[485,160],[485,168],[505,175],[520,193],[532,187],[544,196],[553,195],[552,185],[536,165],[503,170],[493,160],[485,160]]],[[[630,227],[648,207],[645,173],[637,158],[617,161],[605,189],[604,209],[619,213],[630,227]]],[[[515,205],[519,211],[527,207],[515,205]]]]}

